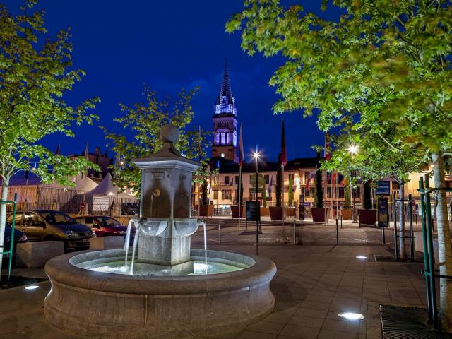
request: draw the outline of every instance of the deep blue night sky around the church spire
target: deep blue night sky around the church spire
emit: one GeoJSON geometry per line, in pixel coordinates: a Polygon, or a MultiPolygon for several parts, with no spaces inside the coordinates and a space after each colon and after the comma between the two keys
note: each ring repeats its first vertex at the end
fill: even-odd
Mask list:
{"type": "MultiPolygon", "coordinates": [[[[338,18],[337,8],[320,11],[321,0],[298,2],[307,11],[338,18]]],[[[21,1],[4,3],[17,13],[21,1]]],[[[243,123],[245,153],[257,144],[268,160],[275,160],[283,118],[288,159],[314,156],[311,145],[323,144],[315,117],[303,118],[301,112],[273,115],[272,105],[278,96],[268,80],[283,59],[266,59],[259,54],[248,57],[240,48],[240,33],[225,33],[227,19],[242,10],[242,0],[41,0],[36,8],[46,11],[50,37],[60,28],[71,27],[73,65],[87,72],[66,100],[76,105],[85,98],[100,97],[102,102],[95,109],[100,116],[98,124],[112,131],[122,130],[112,121],[121,116],[119,102],[133,105],[142,100],[143,83],[160,97],[174,96],[182,87],[189,90],[200,86],[193,101],[193,126],[211,130],[213,105],[227,57],[237,119],[243,123]]],[[[61,143],[63,154],[81,153],[87,141],[90,152],[95,146],[105,150],[106,141],[97,126],[84,124],[74,131],[75,138],[54,134],[42,143],[51,150],[61,143]]]]}

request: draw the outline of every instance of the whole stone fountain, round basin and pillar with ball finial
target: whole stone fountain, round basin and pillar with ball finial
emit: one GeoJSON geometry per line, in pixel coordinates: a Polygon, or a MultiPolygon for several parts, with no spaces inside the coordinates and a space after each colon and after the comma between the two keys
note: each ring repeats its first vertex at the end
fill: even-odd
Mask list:
{"type": "Polygon", "coordinates": [[[52,289],[44,315],[55,326],[97,338],[215,337],[273,310],[272,261],[190,248],[201,225],[190,218],[191,176],[200,165],[174,148],[174,126],[162,126],[160,138],[162,150],[134,162],[141,218],[133,249],[65,254],[45,266],[52,289]]]}

